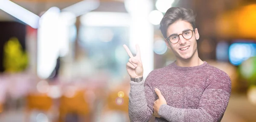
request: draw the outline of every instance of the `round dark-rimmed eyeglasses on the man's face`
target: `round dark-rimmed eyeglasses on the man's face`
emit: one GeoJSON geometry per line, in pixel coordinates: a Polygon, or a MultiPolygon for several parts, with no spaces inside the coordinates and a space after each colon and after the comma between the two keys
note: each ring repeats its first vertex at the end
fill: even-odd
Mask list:
{"type": "Polygon", "coordinates": [[[170,35],[168,38],[166,38],[167,40],[169,40],[171,43],[175,44],[175,43],[178,43],[179,40],[180,40],[180,35],[183,36],[184,39],[191,39],[192,36],[193,36],[193,31],[195,32],[195,29],[194,30],[187,30],[187,31],[184,31],[183,33],[181,34],[175,34],[175,35],[170,35]]]}

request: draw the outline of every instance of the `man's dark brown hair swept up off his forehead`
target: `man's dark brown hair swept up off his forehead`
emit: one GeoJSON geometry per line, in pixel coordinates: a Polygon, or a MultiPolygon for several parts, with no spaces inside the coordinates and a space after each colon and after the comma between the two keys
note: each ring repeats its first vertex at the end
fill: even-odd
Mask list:
{"type": "Polygon", "coordinates": [[[192,25],[193,29],[195,29],[195,17],[196,14],[193,13],[192,9],[186,9],[181,7],[169,8],[160,22],[160,30],[164,38],[167,38],[166,31],[169,25],[172,25],[172,23],[176,22],[177,20],[187,21],[192,25]]]}

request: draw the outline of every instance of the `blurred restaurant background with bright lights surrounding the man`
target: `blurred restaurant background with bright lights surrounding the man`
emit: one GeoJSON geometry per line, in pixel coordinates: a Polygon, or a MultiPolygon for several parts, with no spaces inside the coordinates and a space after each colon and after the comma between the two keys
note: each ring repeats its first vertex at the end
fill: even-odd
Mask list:
{"type": "Polygon", "coordinates": [[[256,122],[255,0],[0,0],[0,122],[129,122],[122,45],[144,77],[175,61],[172,6],[197,13],[199,57],[232,80],[221,122],[256,122]]]}

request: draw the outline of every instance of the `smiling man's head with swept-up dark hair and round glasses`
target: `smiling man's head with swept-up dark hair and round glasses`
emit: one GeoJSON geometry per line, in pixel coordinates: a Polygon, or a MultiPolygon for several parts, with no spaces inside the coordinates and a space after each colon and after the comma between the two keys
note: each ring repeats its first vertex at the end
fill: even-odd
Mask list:
{"type": "Polygon", "coordinates": [[[199,33],[195,28],[195,17],[191,9],[172,7],[166,11],[160,23],[167,47],[179,59],[190,59],[197,54],[199,33]]]}

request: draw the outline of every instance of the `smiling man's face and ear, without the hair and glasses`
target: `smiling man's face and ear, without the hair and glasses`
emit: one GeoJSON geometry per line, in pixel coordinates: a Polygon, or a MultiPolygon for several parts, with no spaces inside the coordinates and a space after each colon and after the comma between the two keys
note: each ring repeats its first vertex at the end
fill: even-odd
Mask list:
{"type": "MultiPolygon", "coordinates": [[[[178,20],[172,25],[169,25],[167,28],[166,36],[169,37],[172,34],[181,34],[183,31],[188,29],[193,30],[193,27],[189,22],[178,20]]],[[[190,59],[197,51],[196,40],[199,39],[197,28],[195,28],[195,32],[193,31],[192,34],[193,35],[191,39],[184,39],[182,35],[179,35],[179,41],[176,44],[173,44],[166,39],[167,47],[172,49],[172,52],[176,55],[177,58],[181,60],[190,59]]]]}

